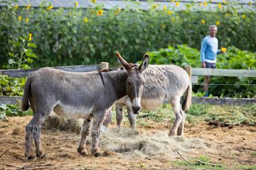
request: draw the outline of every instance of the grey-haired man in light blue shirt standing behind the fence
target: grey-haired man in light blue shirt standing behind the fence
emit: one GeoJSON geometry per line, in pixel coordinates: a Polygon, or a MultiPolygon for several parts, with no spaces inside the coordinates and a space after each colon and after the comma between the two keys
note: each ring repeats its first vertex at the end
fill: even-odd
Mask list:
{"type": "MultiPolygon", "coordinates": [[[[217,34],[217,26],[209,26],[209,35],[202,39],[201,44],[201,65],[202,68],[216,68],[216,56],[219,53],[223,53],[224,50],[218,49],[218,39],[215,37],[217,34]]],[[[209,76],[205,76],[204,79],[204,92],[205,97],[209,96],[208,93],[208,83],[210,81],[209,76]]]]}

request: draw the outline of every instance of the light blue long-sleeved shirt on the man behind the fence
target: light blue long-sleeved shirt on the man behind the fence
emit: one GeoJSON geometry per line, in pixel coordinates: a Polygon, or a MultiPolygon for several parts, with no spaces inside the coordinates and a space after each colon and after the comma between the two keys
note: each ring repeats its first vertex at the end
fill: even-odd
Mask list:
{"type": "Polygon", "coordinates": [[[216,56],[221,53],[221,50],[218,50],[218,39],[207,36],[202,39],[200,55],[201,62],[216,63],[216,56]]]}

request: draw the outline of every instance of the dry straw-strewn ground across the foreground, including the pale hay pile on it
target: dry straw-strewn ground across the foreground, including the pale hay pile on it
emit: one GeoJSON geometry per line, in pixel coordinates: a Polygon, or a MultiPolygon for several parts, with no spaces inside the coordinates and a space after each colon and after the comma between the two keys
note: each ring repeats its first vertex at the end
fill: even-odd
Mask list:
{"type": "Polygon", "coordinates": [[[41,136],[47,159],[27,161],[24,159],[24,135],[25,126],[31,118],[10,117],[9,121],[0,121],[0,154],[8,149],[0,158],[0,169],[11,168],[3,164],[26,167],[24,169],[42,169],[41,165],[50,164],[52,166],[48,168],[52,169],[190,169],[184,164],[175,167],[175,162],[182,160],[176,149],[189,161],[207,155],[212,163],[225,165],[229,169],[255,165],[255,155],[252,154],[255,151],[255,126],[214,128],[204,121],[186,126],[187,138],[169,138],[167,132],[162,131],[168,128],[161,122],[155,122],[154,128],[138,128],[139,133],[130,128],[116,131],[111,129],[115,126],[111,124],[109,131],[102,134],[99,140],[99,149],[110,154],[99,158],[90,154],[90,144],[87,145],[89,155],[78,154],[80,135],[60,131],[65,128],[57,129],[59,125],[52,121],[54,125],[43,129],[41,136]]]}

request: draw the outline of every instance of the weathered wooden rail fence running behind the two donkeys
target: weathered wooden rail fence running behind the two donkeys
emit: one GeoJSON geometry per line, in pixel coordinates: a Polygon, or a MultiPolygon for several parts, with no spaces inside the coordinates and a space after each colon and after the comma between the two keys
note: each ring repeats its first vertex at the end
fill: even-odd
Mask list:
{"type": "MultiPolygon", "coordinates": [[[[58,70],[65,70],[71,72],[88,72],[102,70],[108,68],[108,63],[102,62],[96,65],[84,65],[84,66],[66,66],[66,67],[53,67],[58,70]]],[[[9,75],[9,77],[27,77],[31,72],[38,70],[39,68],[27,69],[27,70],[0,70],[0,74],[9,75]]],[[[198,76],[200,75],[213,75],[213,76],[227,76],[227,77],[256,77],[256,70],[230,70],[230,69],[211,69],[211,68],[191,68],[185,66],[184,68],[189,72],[192,83],[198,82],[198,76]]],[[[15,104],[19,102],[21,97],[19,96],[0,96],[0,104],[15,104]]],[[[208,97],[192,97],[193,103],[202,104],[253,104],[256,103],[256,99],[234,99],[234,98],[208,98],[208,97]]]]}

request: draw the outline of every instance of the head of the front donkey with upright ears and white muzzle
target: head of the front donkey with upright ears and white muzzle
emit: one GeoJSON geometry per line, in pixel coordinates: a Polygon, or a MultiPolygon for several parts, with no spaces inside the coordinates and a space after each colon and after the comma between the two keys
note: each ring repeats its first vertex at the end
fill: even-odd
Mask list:
{"type": "Polygon", "coordinates": [[[126,93],[127,96],[130,97],[133,113],[138,114],[138,111],[140,111],[141,108],[140,100],[143,93],[143,85],[145,83],[143,71],[148,67],[150,56],[146,53],[140,66],[131,66],[118,52],[116,52],[116,56],[118,56],[119,62],[125,67],[128,73],[126,93]]]}

